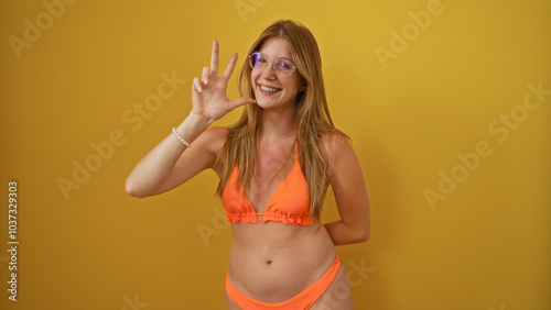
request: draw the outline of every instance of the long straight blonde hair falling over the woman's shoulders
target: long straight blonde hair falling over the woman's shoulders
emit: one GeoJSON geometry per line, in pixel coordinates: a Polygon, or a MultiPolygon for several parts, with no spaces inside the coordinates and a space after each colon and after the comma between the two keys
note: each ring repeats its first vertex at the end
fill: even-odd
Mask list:
{"type": "MultiPolygon", "coordinates": [[[[247,55],[258,52],[271,37],[283,37],[290,46],[298,74],[305,89],[298,93],[294,110],[299,158],[304,163],[304,178],[310,193],[310,217],[320,220],[327,186],[328,163],[321,145],[324,134],[341,133],[331,119],[322,76],[322,57],[314,35],[302,24],[280,20],[268,26],[252,44],[247,55]]],[[[238,74],[240,97],[255,99],[251,87],[251,68],[248,58],[238,74]]],[[[234,165],[238,164],[238,184],[249,188],[257,160],[257,142],[260,133],[262,108],[246,106],[241,118],[229,128],[226,144],[218,155],[217,164],[223,173],[216,193],[222,196],[234,165]]]]}

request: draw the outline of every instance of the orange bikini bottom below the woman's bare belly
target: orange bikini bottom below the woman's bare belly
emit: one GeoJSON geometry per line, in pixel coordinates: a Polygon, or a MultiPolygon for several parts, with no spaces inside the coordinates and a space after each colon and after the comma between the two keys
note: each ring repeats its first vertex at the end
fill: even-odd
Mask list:
{"type": "Polygon", "coordinates": [[[341,258],[338,258],[338,255],[335,257],[335,262],[333,262],[333,265],[329,267],[327,273],[323,275],[320,279],[317,279],[314,284],[309,286],[306,289],[303,291],[299,292],[299,295],[292,297],[291,299],[288,299],[285,301],[281,302],[276,302],[276,303],[269,303],[269,302],[263,302],[256,300],[239,290],[235,288],[230,283],[229,283],[229,277],[226,276],[226,292],[228,294],[229,298],[234,300],[237,306],[241,307],[241,309],[245,310],[264,310],[264,309],[278,309],[278,310],[299,310],[299,309],[310,309],[320,297],[327,290],[327,288],[331,286],[333,280],[335,279],[335,276],[338,273],[338,269],[341,268],[341,258]]]}

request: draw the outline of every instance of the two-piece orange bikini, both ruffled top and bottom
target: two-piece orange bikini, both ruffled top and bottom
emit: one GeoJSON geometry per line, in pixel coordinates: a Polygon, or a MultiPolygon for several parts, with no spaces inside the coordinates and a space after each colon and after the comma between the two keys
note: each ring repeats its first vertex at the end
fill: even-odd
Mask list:
{"type": "MultiPolygon", "coordinates": [[[[294,145],[294,167],[288,177],[278,186],[270,198],[264,212],[258,213],[244,191],[242,185],[236,189],[238,166],[234,166],[228,181],[222,193],[222,203],[227,212],[227,221],[231,223],[266,223],[268,221],[293,225],[312,225],[310,218],[310,195],[306,180],[299,164],[298,144],[294,145]]],[[[282,302],[269,303],[256,300],[236,289],[226,277],[226,291],[241,309],[245,310],[302,310],[310,309],[331,286],[341,268],[341,259],[335,257],[329,269],[314,284],[299,295],[282,302]]]]}

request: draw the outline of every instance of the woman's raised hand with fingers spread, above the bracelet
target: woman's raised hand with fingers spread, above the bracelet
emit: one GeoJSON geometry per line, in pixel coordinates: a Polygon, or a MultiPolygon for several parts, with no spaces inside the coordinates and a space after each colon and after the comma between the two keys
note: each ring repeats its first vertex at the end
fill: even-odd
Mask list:
{"type": "Polygon", "coordinates": [[[224,74],[222,76],[218,75],[218,42],[214,40],[210,68],[203,68],[201,80],[197,77],[193,79],[192,113],[210,121],[216,121],[240,106],[256,102],[251,98],[240,98],[237,100],[228,99],[226,88],[234,73],[236,63],[237,53],[231,56],[224,74]]]}

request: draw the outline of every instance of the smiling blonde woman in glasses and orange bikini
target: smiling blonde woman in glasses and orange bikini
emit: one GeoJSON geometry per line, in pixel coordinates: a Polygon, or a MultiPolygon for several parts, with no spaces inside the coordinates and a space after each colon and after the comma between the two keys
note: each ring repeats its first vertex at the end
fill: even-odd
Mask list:
{"type": "Polygon", "coordinates": [[[237,63],[210,67],[192,87],[190,115],[133,168],[126,190],[148,197],[213,169],[231,223],[228,309],[353,309],[335,245],[369,239],[369,203],[348,137],[327,108],[312,33],[293,21],[268,26],[239,73],[240,99],[226,96],[237,63]],[[229,128],[210,128],[245,106],[229,128]],[[321,223],[331,185],[339,221],[321,223]]]}

